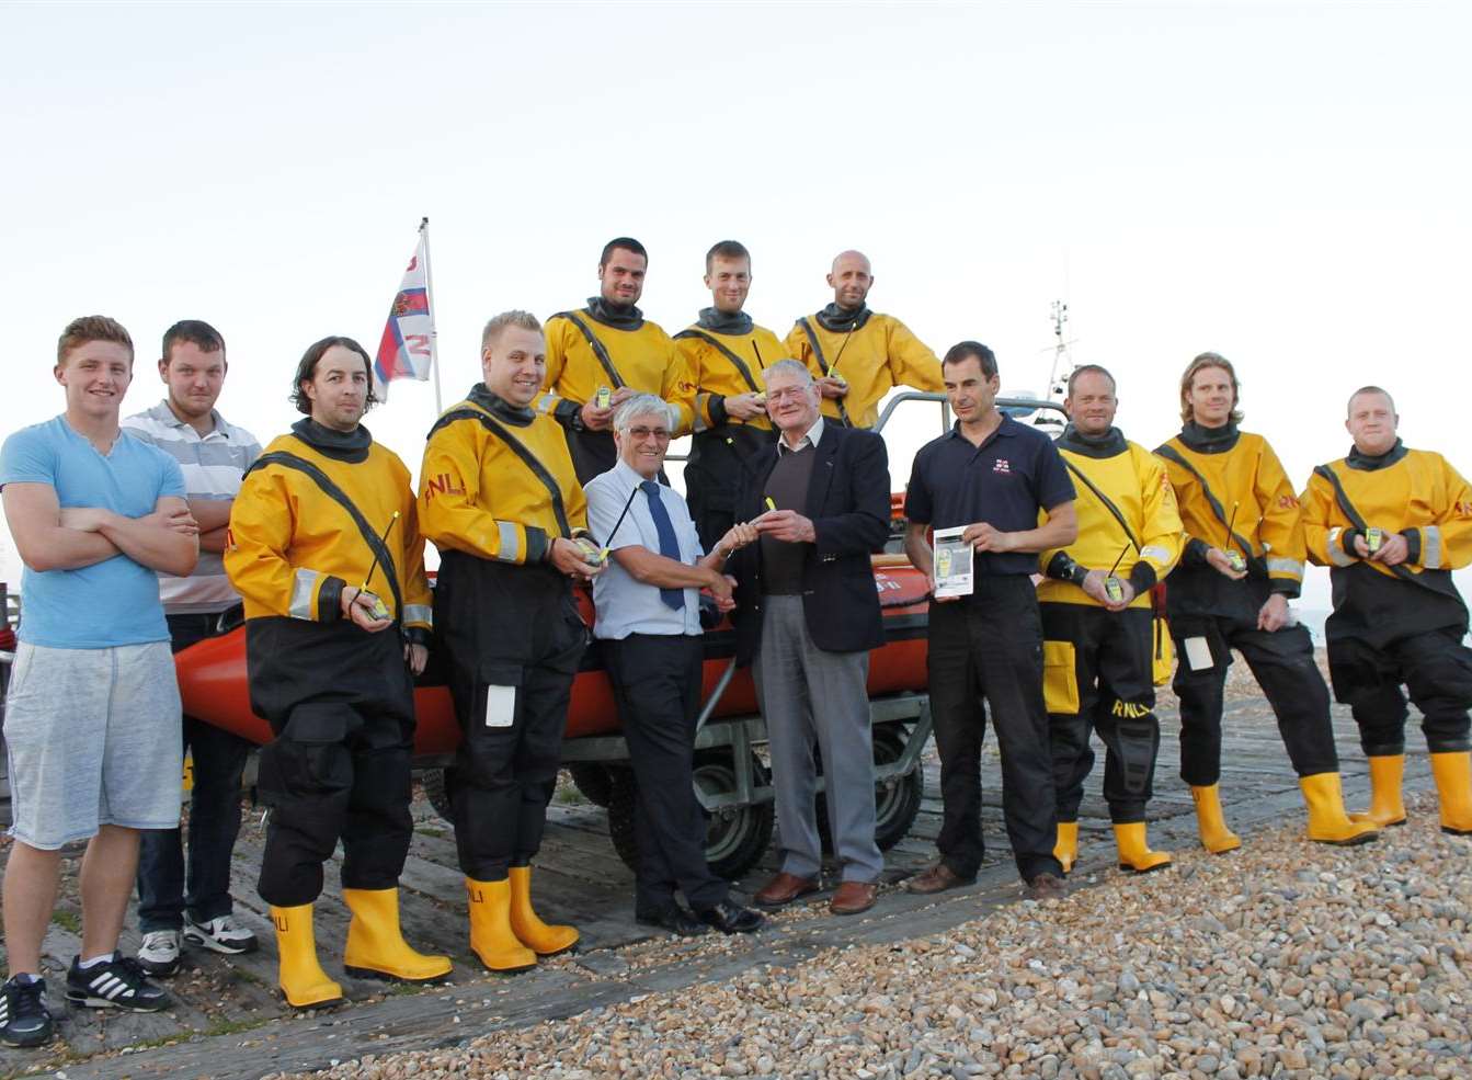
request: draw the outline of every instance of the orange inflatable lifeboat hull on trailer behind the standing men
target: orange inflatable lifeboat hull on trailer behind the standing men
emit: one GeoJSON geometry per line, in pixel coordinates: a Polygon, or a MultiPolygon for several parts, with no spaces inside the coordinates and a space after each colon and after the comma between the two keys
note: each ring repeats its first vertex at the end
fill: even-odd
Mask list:
{"type": "MultiPolygon", "coordinates": [[[[873,563],[886,642],[870,654],[868,695],[923,691],[929,582],[904,555],[874,555],[873,563]]],[[[592,626],[593,601],[586,589],[578,592],[578,607],[592,626]]],[[[702,700],[715,690],[735,651],[736,632],[729,622],[707,631],[702,700]]],[[[250,710],[244,626],[190,645],[175,654],[174,662],[185,713],[256,744],[271,741],[269,725],[250,710]]],[[[459,744],[459,728],[449,690],[434,685],[433,675],[427,673],[414,691],[414,704],[418,715],[415,754],[437,757],[453,753],[459,744]]],[[[717,701],[712,716],[749,716],[755,712],[757,692],[751,669],[740,669],[717,701]]],[[[583,667],[573,684],[567,738],[617,734],[618,729],[612,690],[595,642],[583,657],[583,667]]]]}

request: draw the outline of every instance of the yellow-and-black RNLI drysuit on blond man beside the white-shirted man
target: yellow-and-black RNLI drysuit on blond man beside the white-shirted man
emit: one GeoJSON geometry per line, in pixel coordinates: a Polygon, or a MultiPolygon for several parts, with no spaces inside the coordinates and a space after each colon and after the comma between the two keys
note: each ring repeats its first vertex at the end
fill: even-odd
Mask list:
{"type": "Polygon", "coordinates": [[[420,520],[440,550],[436,639],[462,734],[446,771],[461,869],[502,881],[542,843],[587,642],[549,561],[555,539],[587,533],[562,430],[477,385],[430,429],[420,520]]]}

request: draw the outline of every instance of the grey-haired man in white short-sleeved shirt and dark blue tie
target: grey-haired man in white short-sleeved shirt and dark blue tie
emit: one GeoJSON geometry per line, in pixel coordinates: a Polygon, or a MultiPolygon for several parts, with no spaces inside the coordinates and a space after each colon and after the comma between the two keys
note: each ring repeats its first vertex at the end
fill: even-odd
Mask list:
{"type": "Polygon", "coordinates": [[[587,525],[609,551],[608,572],[593,579],[593,637],[639,785],[634,916],[680,936],[708,925],[749,933],[765,919],[732,903],[726,881],[707,865],[690,774],[704,662],[699,591],[708,588],[721,610],[735,606],[721,567],[757,530],[736,525],[702,554],[684,499],[658,482],[674,426],[673,410],[655,395],[624,401],[614,414],[618,464],[586,488],[587,525]]]}

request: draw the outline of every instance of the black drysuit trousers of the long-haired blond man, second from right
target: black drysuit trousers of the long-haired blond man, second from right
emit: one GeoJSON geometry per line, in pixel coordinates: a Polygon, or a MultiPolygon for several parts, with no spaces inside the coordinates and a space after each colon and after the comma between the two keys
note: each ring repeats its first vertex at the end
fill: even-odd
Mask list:
{"type": "Polygon", "coordinates": [[[1247,660],[1278,718],[1294,772],[1313,776],[1340,771],[1329,688],[1306,628],[1284,626],[1269,634],[1247,616],[1172,614],[1170,637],[1176,642],[1172,688],[1181,698],[1181,779],[1210,787],[1222,778],[1222,691],[1234,648],[1247,660]],[[1191,651],[1203,645],[1192,639],[1210,650],[1210,663],[1198,669],[1192,669],[1191,651]]]}

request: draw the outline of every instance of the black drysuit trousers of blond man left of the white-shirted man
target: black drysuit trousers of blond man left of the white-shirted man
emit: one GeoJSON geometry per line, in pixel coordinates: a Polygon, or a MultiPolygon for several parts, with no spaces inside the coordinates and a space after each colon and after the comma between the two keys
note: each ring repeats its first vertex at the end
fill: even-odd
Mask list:
{"type": "Polygon", "coordinates": [[[587,628],[552,567],[456,551],[442,554],[434,626],[461,729],[445,771],[461,871],[500,881],[542,847],[587,628]]]}

